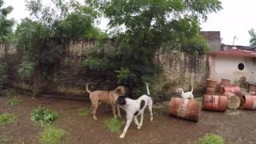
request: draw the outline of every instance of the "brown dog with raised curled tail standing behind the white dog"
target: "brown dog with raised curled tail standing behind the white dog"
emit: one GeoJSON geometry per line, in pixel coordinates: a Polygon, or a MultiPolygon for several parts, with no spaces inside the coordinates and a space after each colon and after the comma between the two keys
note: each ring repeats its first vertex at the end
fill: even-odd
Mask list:
{"type": "Polygon", "coordinates": [[[117,107],[118,117],[121,118],[120,109],[116,105],[115,100],[117,99],[117,97],[126,93],[126,89],[124,86],[118,86],[114,90],[110,90],[110,91],[107,91],[107,90],[90,91],[88,89],[88,84],[86,84],[86,91],[87,93],[90,94],[90,102],[91,102],[90,110],[91,110],[91,114],[94,115],[94,120],[97,120],[97,117],[95,114],[96,114],[96,110],[98,109],[99,101],[110,104],[112,106],[114,118],[117,118],[117,115],[115,113],[115,107],[117,107]]]}

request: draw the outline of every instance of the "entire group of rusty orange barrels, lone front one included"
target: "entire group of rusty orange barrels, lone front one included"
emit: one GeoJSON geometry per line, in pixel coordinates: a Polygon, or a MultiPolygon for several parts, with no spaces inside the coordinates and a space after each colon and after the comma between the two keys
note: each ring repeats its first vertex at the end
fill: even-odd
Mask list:
{"type": "Polygon", "coordinates": [[[206,94],[204,94],[202,102],[173,97],[170,99],[169,114],[178,118],[198,122],[201,107],[203,110],[221,112],[227,109],[237,110],[239,107],[246,110],[256,110],[256,96],[242,94],[240,87],[230,86],[230,80],[228,79],[222,78],[219,86],[217,81],[207,79],[206,94]]]}

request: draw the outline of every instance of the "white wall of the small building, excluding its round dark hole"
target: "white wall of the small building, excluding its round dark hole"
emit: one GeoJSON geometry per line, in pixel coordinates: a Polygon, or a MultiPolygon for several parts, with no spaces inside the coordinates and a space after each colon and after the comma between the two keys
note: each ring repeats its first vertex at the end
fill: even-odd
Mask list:
{"type": "Polygon", "coordinates": [[[250,81],[251,72],[256,74],[255,58],[215,55],[210,56],[210,78],[220,82],[222,78],[230,79],[232,83],[238,82],[240,78],[250,81]],[[238,69],[238,64],[244,64],[244,70],[238,69]]]}

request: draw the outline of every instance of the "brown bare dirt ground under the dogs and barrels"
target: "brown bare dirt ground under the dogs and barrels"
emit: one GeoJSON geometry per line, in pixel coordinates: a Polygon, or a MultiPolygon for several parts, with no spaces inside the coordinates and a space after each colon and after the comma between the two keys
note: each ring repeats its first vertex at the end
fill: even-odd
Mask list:
{"type": "MultiPolygon", "coordinates": [[[[157,143],[196,143],[207,133],[219,134],[227,143],[256,142],[256,113],[250,110],[239,110],[238,114],[229,115],[211,111],[202,111],[199,122],[190,122],[173,118],[166,112],[167,107],[154,109],[154,121],[150,122],[146,110],[141,130],[131,124],[126,138],[120,139],[120,133],[110,132],[103,126],[106,119],[112,118],[110,106],[101,105],[98,108],[98,120],[92,116],[78,115],[78,109],[89,109],[90,102],[70,101],[54,98],[31,98],[14,94],[22,102],[18,106],[9,106],[7,97],[0,97],[0,114],[6,112],[18,116],[16,122],[0,125],[0,143],[38,143],[38,134],[42,127],[30,120],[30,112],[38,106],[46,106],[58,112],[59,118],[54,126],[66,130],[63,143],[67,144],[157,144],[157,143]]],[[[125,126],[125,113],[122,111],[122,129],[125,126]]],[[[122,131],[122,130],[121,130],[122,131]]]]}

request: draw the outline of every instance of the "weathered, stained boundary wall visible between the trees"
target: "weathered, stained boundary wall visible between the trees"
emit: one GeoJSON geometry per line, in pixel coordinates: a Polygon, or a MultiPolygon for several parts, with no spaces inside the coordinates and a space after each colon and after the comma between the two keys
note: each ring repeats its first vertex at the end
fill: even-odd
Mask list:
{"type": "MultiPolygon", "coordinates": [[[[111,90],[116,86],[117,79],[115,74],[110,71],[90,71],[81,68],[81,55],[90,49],[101,44],[94,39],[80,39],[77,42],[71,42],[68,50],[70,54],[62,66],[49,79],[42,80],[42,92],[46,94],[79,95],[84,96],[85,86],[90,82],[92,90],[102,89],[111,90]]],[[[106,50],[114,50],[114,40],[107,39],[103,42],[106,50]]],[[[14,46],[10,50],[3,50],[5,46],[0,46],[0,56],[6,59],[8,57],[10,85],[23,90],[32,90],[28,82],[22,82],[18,78],[18,63],[15,58],[14,46]],[[5,54],[8,52],[8,54],[5,54]]],[[[175,93],[178,87],[184,90],[190,90],[190,85],[194,86],[195,91],[202,91],[205,79],[208,78],[208,57],[207,55],[193,56],[181,51],[160,49],[155,55],[155,62],[163,67],[163,74],[159,78],[157,85],[154,86],[154,94],[159,97],[170,97],[175,93]]]]}

